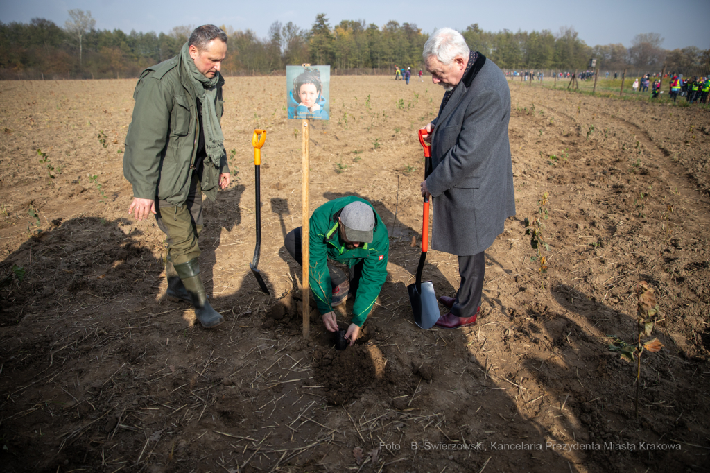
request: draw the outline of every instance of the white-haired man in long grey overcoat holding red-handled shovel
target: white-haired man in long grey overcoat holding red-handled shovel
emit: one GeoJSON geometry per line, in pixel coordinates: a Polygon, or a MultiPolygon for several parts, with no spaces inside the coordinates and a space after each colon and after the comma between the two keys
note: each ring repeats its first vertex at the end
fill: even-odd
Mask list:
{"type": "Polygon", "coordinates": [[[439,303],[450,312],[437,326],[476,323],[481,310],[484,251],[515,215],[513,163],[508,121],[510,89],[503,72],[469,50],[451,28],[436,31],[422,53],[432,82],[446,90],[439,114],[424,127],[432,143],[432,170],[421,184],[434,197],[432,249],[459,256],[461,285],[456,298],[439,303]]]}

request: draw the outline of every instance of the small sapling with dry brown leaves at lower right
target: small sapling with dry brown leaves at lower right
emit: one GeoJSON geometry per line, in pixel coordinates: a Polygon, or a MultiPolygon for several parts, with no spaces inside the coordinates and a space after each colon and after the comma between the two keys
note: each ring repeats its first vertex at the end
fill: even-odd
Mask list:
{"type": "Polygon", "coordinates": [[[626,343],[623,339],[614,337],[614,341],[609,345],[609,349],[613,352],[618,352],[621,359],[633,363],[636,361],[636,398],[634,408],[636,418],[638,419],[638,394],[641,384],[641,354],[646,352],[660,352],[663,344],[659,339],[648,337],[658,320],[660,311],[659,305],[656,302],[656,296],[653,294],[653,289],[648,286],[646,281],[640,281],[636,285],[636,293],[638,294],[638,305],[636,309],[636,337],[635,342],[626,343]],[[643,340],[643,338],[646,338],[643,340]]]}

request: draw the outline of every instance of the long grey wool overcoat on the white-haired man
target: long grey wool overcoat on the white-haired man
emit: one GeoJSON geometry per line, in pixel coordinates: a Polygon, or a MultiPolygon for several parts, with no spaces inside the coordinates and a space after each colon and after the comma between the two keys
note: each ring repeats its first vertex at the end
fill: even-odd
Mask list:
{"type": "Polygon", "coordinates": [[[479,53],[432,121],[432,249],[478,254],[515,215],[509,120],[506,76],[479,53]]]}

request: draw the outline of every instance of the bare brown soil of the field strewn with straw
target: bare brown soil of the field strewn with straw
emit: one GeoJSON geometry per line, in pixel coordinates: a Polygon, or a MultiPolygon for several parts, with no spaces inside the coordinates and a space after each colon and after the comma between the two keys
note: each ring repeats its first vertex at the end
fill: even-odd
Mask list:
{"type": "MultiPolygon", "coordinates": [[[[391,227],[364,335],[335,352],[315,313],[302,339],[300,268],[283,247],[301,215],[283,78],[227,84],[239,174],[207,204],[201,239],[226,323],[203,330],[163,296],[162,234],[126,214],[134,81],[0,82],[1,471],[706,471],[706,111],[511,84],[518,215],[487,251],[483,315],[422,331],[405,288],[420,255],[415,131],[442,92],[333,77],[332,119],[311,132],[312,209],[354,193],[391,227]],[[248,266],[261,127],[259,267],[273,297],[248,266]],[[541,280],[523,219],[545,192],[541,280]],[[644,354],[637,420],[635,368],[608,344],[633,339],[638,281],[656,290],[665,348],[644,354]]],[[[430,251],[425,275],[453,295],[455,257],[430,251]]]]}

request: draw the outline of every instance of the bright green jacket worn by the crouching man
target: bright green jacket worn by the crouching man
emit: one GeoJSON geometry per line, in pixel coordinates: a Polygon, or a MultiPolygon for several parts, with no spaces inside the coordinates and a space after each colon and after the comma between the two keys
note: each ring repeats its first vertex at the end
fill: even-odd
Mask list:
{"type": "Polygon", "coordinates": [[[355,249],[346,249],[339,237],[338,217],[343,207],[355,201],[365,202],[372,207],[370,202],[351,195],[331,200],[318,207],[311,215],[309,234],[310,288],[320,313],[332,312],[330,273],[327,260],[331,259],[347,266],[354,266],[362,260],[362,276],[351,320],[355,325],[362,327],[387,278],[387,256],[390,242],[387,227],[373,208],[375,228],[373,229],[372,243],[363,244],[355,249]]]}

